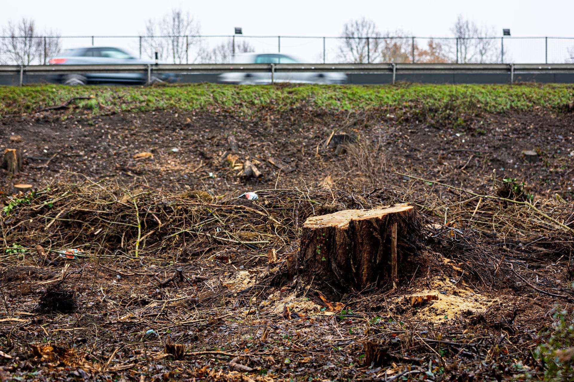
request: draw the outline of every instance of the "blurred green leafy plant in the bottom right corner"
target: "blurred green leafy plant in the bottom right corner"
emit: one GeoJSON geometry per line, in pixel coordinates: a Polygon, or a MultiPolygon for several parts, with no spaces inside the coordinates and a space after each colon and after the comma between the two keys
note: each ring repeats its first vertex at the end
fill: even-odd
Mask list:
{"type": "Polygon", "coordinates": [[[548,332],[548,341],[536,348],[534,359],[544,371],[545,381],[565,381],[574,373],[574,319],[567,317],[567,310],[556,312],[548,332]]]}

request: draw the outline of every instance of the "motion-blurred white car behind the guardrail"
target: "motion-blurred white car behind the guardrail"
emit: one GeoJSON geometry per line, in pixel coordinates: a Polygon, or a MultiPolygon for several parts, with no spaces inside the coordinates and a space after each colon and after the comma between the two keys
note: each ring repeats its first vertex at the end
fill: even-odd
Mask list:
{"type": "MultiPolygon", "coordinates": [[[[233,64],[300,64],[293,56],[280,53],[236,54],[233,64]]],[[[274,82],[294,82],[300,84],[346,84],[347,74],[338,72],[275,72],[274,82]]],[[[258,85],[270,84],[271,72],[223,73],[219,76],[222,84],[258,85]]]]}

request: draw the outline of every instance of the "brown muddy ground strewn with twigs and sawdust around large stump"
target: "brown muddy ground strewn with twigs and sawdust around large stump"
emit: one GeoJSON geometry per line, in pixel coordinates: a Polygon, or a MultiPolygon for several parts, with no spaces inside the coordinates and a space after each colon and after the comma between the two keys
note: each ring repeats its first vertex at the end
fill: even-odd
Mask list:
{"type": "Polygon", "coordinates": [[[552,323],[556,304],[568,309],[574,300],[571,113],[508,112],[431,124],[381,111],[304,108],[249,116],[55,112],[9,117],[0,129],[0,147],[20,148],[25,157],[20,174],[1,174],[5,206],[14,183],[51,187],[2,219],[0,375],[135,381],[540,377],[543,368],[532,352],[546,338],[541,330],[552,323]],[[325,147],[333,131],[356,139],[336,153],[325,147]],[[227,156],[229,136],[238,142],[236,157],[227,156]],[[536,151],[538,162],[526,162],[525,150],[536,151]],[[134,159],[144,152],[152,155],[134,159]],[[270,157],[286,166],[273,166],[270,157]],[[247,159],[261,178],[239,176],[247,159]],[[104,191],[94,187],[118,199],[125,190],[160,199],[180,195],[170,200],[185,213],[177,220],[156,199],[146,199],[144,232],[152,230],[153,214],[165,229],[153,226],[136,257],[125,243],[133,228],[106,225],[115,215],[133,222],[133,214],[111,204],[100,211],[108,206],[98,204],[104,191]],[[260,198],[236,199],[246,191],[260,198]],[[484,195],[510,202],[487,202],[484,195]],[[512,200],[534,203],[563,226],[512,200]],[[394,202],[414,203],[421,216],[434,219],[425,220],[424,247],[405,262],[398,289],[374,285],[333,293],[286,275],[285,260],[296,253],[307,216],[394,202]],[[189,207],[193,203],[200,209],[189,207]],[[226,212],[235,207],[226,206],[251,210],[235,215],[226,212]],[[205,208],[220,211],[213,215],[220,220],[201,215],[205,208]],[[95,211],[106,220],[94,220],[95,211]],[[250,226],[262,213],[280,224],[250,226]],[[170,227],[172,218],[177,224],[170,227]],[[212,240],[193,233],[166,239],[191,223],[209,226],[212,240]],[[213,239],[220,232],[235,236],[213,239]],[[454,233],[447,238],[445,232],[454,233]],[[107,239],[98,241],[104,234],[107,239]],[[50,250],[47,260],[34,249],[38,244],[50,250]],[[63,254],[76,247],[81,251],[63,254]],[[277,263],[268,264],[270,249],[277,249],[277,263]],[[154,275],[162,281],[176,267],[185,281],[177,288],[159,285],[154,275]],[[412,305],[413,296],[433,300],[412,305]],[[185,356],[175,360],[166,344],[185,344],[185,356]]]}

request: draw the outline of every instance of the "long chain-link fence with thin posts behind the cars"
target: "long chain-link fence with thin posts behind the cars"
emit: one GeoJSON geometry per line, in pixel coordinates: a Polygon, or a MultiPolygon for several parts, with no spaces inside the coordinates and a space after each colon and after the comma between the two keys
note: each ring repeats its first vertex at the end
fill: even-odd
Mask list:
{"type": "Polygon", "coordinates": [[[45,64],[65,49],[115,46],[133,57],[176,64],[227,63],[236,54],[284,53],[309,63],[574,62],[564,37],[63,36],[0,37],[0,64],[45,64]]]}

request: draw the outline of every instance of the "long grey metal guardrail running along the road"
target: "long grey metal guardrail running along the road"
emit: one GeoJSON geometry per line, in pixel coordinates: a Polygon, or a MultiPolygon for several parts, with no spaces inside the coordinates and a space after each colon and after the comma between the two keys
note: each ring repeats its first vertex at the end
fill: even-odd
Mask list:
{"type": "Polygon", "coordinates": [[[510,83],[518,73],[574,73],[574,64],[138,64],[138,65],[0,65],[0,74],[86,74],[86,73],[228,73],[271,72],[344,72],[392,73],[393,84],[399,74],[425,73],[501,73],[510,74],[510,83]]]}

